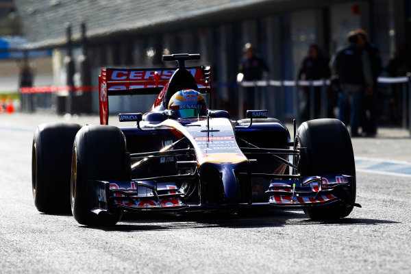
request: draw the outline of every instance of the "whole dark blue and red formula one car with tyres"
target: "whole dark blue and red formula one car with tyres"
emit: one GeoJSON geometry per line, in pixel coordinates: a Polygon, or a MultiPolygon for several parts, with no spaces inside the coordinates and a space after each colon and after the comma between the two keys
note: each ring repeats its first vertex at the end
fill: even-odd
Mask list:
{"type": "MultiPolygon", "coordinates": [[[[348,216],[356,203],[351,139],[336,119],[306,121],[290,138],[266,110],[233,121],[208,109],[210,67],[199,54],[163,55],[177,69],[101,69],[101,125],[39,125],[32,189],[40,212],[69,209],[78,223],[113,225],[124,210],[302,208],[312,219],[348,216]],[[150,112],[108,125],[110,95],[156,94],[150,112]],[[69,203],[70,201],[70,203],[69,203]]],[[[211,100],[210,100],[211,101],[211,100]]],[[[211,108],[211,107],[210,107],[211,108]]]]}

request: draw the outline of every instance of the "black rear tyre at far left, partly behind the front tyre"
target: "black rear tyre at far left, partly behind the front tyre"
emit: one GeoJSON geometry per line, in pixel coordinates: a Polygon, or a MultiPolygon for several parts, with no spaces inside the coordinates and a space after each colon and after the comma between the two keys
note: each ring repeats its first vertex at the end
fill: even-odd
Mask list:
{"type": "Polygon", "coordinates": [[[36,208],[45,213],[70,212],[71,151],[80,125],[39,125],[32,145],[32,192],[36,208]]]}

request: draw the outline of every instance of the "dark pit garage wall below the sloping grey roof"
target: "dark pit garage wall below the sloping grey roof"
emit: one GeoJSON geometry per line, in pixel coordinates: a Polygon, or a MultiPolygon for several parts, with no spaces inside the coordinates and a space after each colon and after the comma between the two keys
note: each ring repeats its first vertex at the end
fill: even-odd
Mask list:
{"type": "MultiPolygon", "coordinates": [[[[192,65],[211,64],[214,69],[213,82],[220,84],[214,89],[214,108],[235,111],[238,90],[227,84],[235,82],[245,42],[252,42],[258,53],[265,58],[270,67],[270,79],[295,79],[299,64],[306,56],[310,44],[319,44],[326,57],[329,57],[337,47],[343,45],[347,32],[359,27],[366,29],[371,39],[382,49],[383,62],[386,64],[398,44],[398,38],[403,36],[401,32],[404,32],[401,28],[395,31],[401,21],[397,18],[401,16],[395,10],[403,8],[399,2],[401,1],[350,1],[263,18],[258,18],[256,14],[254,18],[247,20],[221,25],[210,23],[209,26],[187,28],[179,32],[125,35],[117,40],[91,45],[89,59],[92,62],[92,75],[98,75],[103,66],[162,66],[159,62],[162,53],[199,52],[201,62],[193,62],[192,65]],[[358,13],[353,11],[354,5],[358,8],[358,13]]],[[[64,50],[61,50],[60,58],[64,58],[64,55],[64,50]]],[[[55,62],[59,63],[62,62],[55,62]]],[[[55,70],[61,69],[64,70],[55,70]]],[[[97,86],[97,77],[92,77],[92,82],[97,86]]],[[[265,97],[268,100],[260,105],[260,108],[267,108],[274,116],[279,116],[279,105],[282,103],[278,101],[277,92],[278,90],[268,92],[265,97]]],[[[97,93],[92,100],[93,111],[98,112],[97,93]]],[[[285,90],[284,100],[286,116],[295,116],[292,88],[285,90]]],[[[152,103],[153,97],[149,96],[113,97],[110,98],[110,112],[145,112],[152,103]]]]}

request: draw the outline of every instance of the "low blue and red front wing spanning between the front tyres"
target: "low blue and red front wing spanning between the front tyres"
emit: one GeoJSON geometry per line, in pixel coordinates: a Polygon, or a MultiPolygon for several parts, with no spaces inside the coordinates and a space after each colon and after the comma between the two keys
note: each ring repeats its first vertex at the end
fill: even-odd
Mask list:
{"type": "Polygon", "coordinates": [[[331,203],[345,203],[344,193],[353,184],[349,175],[308,176],[301,179],[272,179],[266,193],[272,195],[267,203],[192,204],[184,203],[184,194],[173,182],[155,181],[92,181],[91,208],[95,214],[112,212],[116,208],[128,211],[212,210],[247,206],[276,208],[312,208],[331,203]]]}

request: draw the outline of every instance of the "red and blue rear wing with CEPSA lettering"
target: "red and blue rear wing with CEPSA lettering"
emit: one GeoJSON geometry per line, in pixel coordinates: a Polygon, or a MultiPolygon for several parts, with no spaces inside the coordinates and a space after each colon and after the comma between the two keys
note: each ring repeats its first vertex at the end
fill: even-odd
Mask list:
{"type": "MultiPolygon", "coordinates": [[[[210,66],[186,68],[195,79],[199,92],[211,96],[210,66]]],[[[99,75],[100,124],[108,125],[108,96],[159,95],[177,69],[108,69],[99,75]]]]}

